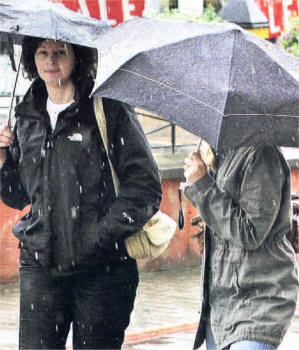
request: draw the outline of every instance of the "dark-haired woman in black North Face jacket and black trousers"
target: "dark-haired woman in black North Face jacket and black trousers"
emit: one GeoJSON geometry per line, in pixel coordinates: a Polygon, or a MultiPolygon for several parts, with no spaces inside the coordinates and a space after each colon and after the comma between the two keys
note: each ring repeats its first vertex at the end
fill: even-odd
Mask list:
{"type": "Polygon", "coordinates": [[[124,241],[158,210],[157,166],[134,110],[103,99],[111,169],[90,92],[92,52],[27,37],[33,83],[0,131],[1,198],[28,214],[20,240],[20,349],[120,349],[138,271],[124,241]]]}

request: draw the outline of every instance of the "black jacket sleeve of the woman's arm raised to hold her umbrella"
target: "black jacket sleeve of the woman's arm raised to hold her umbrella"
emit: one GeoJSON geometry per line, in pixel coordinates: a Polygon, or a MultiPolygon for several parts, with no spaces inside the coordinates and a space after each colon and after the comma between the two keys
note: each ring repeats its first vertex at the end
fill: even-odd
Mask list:
{"type": "Polygon", "coordinates": [[[22,210],[29,204],[29,198],[19,179],[18,159],[19,148],[14,131],[13,145],[7,149],[7,160],[0,169],[0,195],[6,205],[22,210]]]}

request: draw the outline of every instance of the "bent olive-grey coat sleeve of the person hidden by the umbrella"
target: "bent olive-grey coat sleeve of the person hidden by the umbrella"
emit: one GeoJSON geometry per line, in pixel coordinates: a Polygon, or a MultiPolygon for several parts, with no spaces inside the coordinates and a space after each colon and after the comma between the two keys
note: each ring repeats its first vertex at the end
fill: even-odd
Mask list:
{"type": "Polygon", "coordinates": [[[257,249],[268,237],[280,210],[283,187],[288,183],[275,148],[253,149],[240,174],[238,200],[220,189],[209,175],[185,190],[212,231],[248,250],[257,249]]]}

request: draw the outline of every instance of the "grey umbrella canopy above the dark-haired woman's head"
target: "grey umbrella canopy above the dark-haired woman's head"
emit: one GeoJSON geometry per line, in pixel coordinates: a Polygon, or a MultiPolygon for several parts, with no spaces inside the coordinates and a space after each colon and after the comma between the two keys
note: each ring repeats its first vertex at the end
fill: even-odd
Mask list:
{"type": "Polygon", "coordinates": [[[54,39],[95,47],[110,26],[61,4],[40,0],[4,0],[0,3],[0,41],[21,44],[23,36],[54,39]]]}

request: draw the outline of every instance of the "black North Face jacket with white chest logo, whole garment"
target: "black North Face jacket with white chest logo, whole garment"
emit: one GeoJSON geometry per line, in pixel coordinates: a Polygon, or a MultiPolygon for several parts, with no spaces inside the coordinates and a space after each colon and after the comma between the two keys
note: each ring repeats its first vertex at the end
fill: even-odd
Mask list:
{"type": "Polygon", "coordinates": [[[158,210],[162,196],[133,109],[106,99],[109,154],[120,180],[116,199],[89,92],[76,92],[52,133],[47,91],[35,81],[16,108],[15,140],[1,170],[4,203],[31,204],[14,234],[38,263],[59,271],[124,256],[124,239],[158,210]]]}

